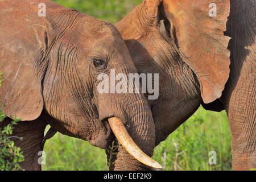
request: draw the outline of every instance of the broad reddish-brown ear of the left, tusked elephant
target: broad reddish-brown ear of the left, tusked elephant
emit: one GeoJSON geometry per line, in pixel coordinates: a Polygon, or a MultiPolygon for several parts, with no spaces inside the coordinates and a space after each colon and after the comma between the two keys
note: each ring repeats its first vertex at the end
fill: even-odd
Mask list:
{"type": "Polygon", "coordinates": [[[28,22],[22,17],[20,21],[5,19],[0,18],[0,73],[5,72],[0,86],[0,109],[7,116],[32,121],[44,106],[41,82],[46,65],[40,61],[49,43],[47,24],[44,20],[28,22]]]}

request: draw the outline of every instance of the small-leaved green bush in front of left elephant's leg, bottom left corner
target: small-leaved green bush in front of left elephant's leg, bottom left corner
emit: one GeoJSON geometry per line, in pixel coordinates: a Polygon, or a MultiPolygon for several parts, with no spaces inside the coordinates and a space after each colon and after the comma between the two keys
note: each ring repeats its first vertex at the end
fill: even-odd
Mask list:
{"type": "MultiPolygon", "coordinates": [[[[3,73],[0,75],[0,86],[2,85],[3,73]]],[[[2,106],[0,106],[2,108],[2,106]]],[[[5,115],[0,109],[0,122],[3,122],[5,115]]],[[[14,146],[14,142],[11,141],[11,134],[13,134],[14,125],[16,125],[20,119],[13,119],[9,125],[0,128],[0,171],[16,171],[20,168],[18,162],[24,160],[24,156],[20,151],[20,147],[14,146]]]]}

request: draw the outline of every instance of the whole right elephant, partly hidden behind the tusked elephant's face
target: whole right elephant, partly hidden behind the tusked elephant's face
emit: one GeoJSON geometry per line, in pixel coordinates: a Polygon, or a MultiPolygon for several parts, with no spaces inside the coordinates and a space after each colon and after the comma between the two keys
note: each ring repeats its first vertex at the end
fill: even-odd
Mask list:
{"type": "Polygon", "coordinates": [[[254,0],[144,0],[115,24],[138,73],[159,73],[155,146],[200,105],[226,110],[233,169],[256,168],[255,25],[254,0]]]}

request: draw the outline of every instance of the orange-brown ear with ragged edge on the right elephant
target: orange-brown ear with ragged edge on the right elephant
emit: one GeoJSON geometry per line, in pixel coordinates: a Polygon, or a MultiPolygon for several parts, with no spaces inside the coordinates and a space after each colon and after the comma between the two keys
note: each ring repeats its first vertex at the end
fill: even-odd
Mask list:
{"type": "Polygon", "coordinates": [[[230,38],[224,35],[229,0],[163,0],[162,5],[181,57],[199,79],[204,103],[220,98],[229,77],[230,38]]]}

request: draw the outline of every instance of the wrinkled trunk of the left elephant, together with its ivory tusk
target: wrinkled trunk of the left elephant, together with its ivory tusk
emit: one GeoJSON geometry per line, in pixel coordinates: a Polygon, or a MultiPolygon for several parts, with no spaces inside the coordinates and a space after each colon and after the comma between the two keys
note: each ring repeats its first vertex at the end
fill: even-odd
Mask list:
{"type": "Polygon", "coordinates": [[[108,119],[110,128],[119,141],[114,170],[138,171],[148,169],[147,166],[161,168],[160,164],[150,158],[155,147],[155,126],[146,98],[135,93],[119,96],[113,94],[114,98],[109,94],[101,96],[105,98],[105,102],[98,107],[100,120],[108,119]],[[106,103],[112,104],[106,107],[106,103]]]}

